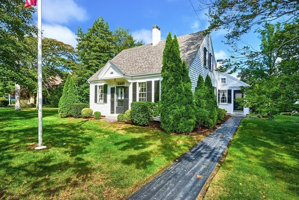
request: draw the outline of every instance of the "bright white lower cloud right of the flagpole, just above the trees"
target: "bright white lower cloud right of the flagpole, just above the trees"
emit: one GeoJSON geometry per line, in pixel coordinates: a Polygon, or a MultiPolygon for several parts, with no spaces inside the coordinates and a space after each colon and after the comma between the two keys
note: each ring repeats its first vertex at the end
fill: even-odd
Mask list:
{"type": "Polygon", "coordinates": [[[76,34],[66,26],[42,24],[42,30],[43,37],[53,38],[73,47],[77,45],[76,34]]]}

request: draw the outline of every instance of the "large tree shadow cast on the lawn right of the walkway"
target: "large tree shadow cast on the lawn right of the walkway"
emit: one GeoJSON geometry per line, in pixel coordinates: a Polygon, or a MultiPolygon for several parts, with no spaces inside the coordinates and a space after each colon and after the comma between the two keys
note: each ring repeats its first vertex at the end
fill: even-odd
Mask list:
{"type": "MultiPolygon", "coordinates": [[[[248,156],[253,156],[257,160],[257,167],[265,168],[269,174],[277,178],[276,180],[286,182],[288,190],[299,196],[299,124],[280,123],[277,128],[277,122],[247,120],[243,121],[242,126],[243,131],[251,131],[250,133],[244,132],[235,138],[234,148],[241,151],[243,155],[248,155],[246,148],[252,149],[253,154],[248,156]],[[261,151],[263,153],[260,153],[261,151]],[[290,164],[289,161],[295,161],[297,165],[290,164]]],[[[225,162],[233,161],[226,160],[225,162]]]]}

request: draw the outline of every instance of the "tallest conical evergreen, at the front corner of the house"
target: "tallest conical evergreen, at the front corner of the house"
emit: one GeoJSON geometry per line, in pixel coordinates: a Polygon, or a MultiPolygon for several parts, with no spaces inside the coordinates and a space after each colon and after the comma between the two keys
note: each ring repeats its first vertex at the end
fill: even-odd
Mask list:
{"type": "Polygon", "coordinates": [[[167,133],[190,133],[195,117],[193,103],[190,104],[190,99],[187,99],[190,94],[186,94],[184,86],[187,90],[190,86],[191,91],[191,85],[188,85],[186,74],[183,74],[183,66],[186,65],[181,62],[178,40],[176,36],[172,39],[171,33],[167,35],[162,64],[161,128],[167,133]]]}

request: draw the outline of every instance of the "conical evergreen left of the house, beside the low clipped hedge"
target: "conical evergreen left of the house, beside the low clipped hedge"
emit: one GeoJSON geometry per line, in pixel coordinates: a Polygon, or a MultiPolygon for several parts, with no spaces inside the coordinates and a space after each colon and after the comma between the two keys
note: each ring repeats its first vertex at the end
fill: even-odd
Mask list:
{"type": "Polygon", "coordinates": [[[68,75],[64,88],[62,91],[62,96],[58,104],[58,112],[61,117],[67,117],[71,115],[71,105],[73,103],[79,103],[77,90],[71,75],[68,75]]]}

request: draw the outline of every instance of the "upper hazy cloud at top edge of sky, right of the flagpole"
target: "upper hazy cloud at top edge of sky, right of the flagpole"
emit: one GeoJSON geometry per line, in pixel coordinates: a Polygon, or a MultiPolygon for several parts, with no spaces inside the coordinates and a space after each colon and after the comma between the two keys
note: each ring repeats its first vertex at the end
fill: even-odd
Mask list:
{"type": "Polygon", "coordinates": [[[85,21],[86,10],[74,0],[45,0],[42,2],[42,18],[48,23],[60,24],[71,20],[85,21]]]}

